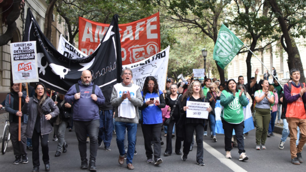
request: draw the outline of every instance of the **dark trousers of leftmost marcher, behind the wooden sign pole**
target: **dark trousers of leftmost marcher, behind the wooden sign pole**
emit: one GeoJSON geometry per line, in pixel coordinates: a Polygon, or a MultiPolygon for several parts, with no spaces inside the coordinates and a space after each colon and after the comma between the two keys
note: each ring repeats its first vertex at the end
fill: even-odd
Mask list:
{"type": "Polygon", "coordinates": [[[16,122],[11,122],[9,132],[11,133],[11,141],[15,156],[27,155],[27,137],[25,137],[25,129],[27,124],[21,122],[21,140],[18,141],[18,126],[16,122]]]}

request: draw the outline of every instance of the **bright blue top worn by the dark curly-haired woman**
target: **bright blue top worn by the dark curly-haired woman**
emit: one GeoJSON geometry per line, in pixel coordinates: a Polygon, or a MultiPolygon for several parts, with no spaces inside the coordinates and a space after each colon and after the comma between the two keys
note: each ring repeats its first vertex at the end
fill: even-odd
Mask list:
{"type": "MultiPolygon", "coordinates": [[[[163,123],[162,110],[166,106],[163,92],[159,90],[159,96],[156,92],[147,92],[145,95],[145,100],[143,100],[143,105],[139,109],[141,110],[143,124],[160,124],[163,123]],[[154,104],[147,106],[145,103],[154,98],[154,100],[159,100],[160,105],[156,106],[154,104]]],[[[143,97],[143,91],[141,91],[143,97]]]]}

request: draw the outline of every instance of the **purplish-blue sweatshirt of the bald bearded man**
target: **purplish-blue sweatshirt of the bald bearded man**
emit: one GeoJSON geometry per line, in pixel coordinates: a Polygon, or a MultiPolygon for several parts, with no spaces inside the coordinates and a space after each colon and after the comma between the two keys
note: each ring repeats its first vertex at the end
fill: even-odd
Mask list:
{"type": "Polygon", "coordinates": [[[90,121],[99,119],[99,105],[103,105],[105,98],[101,89],[96,86],[95,94],[98,97],[97,101],[93,101],[90,97],[92,94],[93,82],[89,86],[83,85],[82,81],[79,82],[81,98],[79,100],[74,99],[74,94],[77,93],[75,85],[72,85],[65,95],[65,101],[72,105],[72,117],[73,120],[90,121]]]}

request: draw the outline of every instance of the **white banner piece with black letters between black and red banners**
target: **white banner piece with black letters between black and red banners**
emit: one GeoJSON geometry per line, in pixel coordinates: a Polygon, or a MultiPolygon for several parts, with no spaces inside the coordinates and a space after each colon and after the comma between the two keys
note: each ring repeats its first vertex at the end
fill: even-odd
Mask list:
{"type": "Polygon", "coordinates": [[[71,45],[69,41],[63,37],[63,35],[60,36],[58,52],[70,59],[82,59],[87,57],[86,54],[71,45]]]}

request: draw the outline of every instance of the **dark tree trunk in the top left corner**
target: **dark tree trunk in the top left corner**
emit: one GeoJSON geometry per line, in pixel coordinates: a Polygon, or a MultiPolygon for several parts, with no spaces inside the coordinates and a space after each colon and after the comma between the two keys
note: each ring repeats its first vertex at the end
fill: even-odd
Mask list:
{"type": "Polygon", "coordinates": [[[15,0],[12,4],[11,8],[13,8],[13,10],[6,18],[8,28],[6,32],[0,36],[0,46],[7,44],[13,38],[13,33],[17,29],[17,24],[15,21],[20,16],[20,11],[21,11],[20,3],[21,3],[21,0],[15,0]]]}

